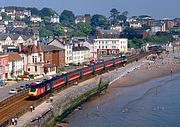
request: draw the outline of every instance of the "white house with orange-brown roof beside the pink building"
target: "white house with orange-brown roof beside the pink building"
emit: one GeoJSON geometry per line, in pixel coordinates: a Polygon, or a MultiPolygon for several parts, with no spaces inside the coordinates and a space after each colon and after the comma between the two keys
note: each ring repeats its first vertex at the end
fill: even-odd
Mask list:
{"type": "Polygon", "coordinates": [[[18,53],[10,53],[8,54],[9,58],[9,71],[8,71],[8,79],[15,79],[19,75],[24,74],[24,62],[21,56],[18,53]]]}

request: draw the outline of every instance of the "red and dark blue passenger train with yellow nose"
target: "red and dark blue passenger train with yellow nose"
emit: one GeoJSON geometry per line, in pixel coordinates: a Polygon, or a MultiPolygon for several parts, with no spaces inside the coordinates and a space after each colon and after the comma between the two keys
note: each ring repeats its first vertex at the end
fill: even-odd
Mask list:
{"type": "Polygon", "coordinates": [[[52,92],[54,89],[66,86],[70,83],[77,82],[80,79],[86,79],[88,76],[103,73],[113,67],[117,67],[127,62],[126,56],[118,56],[104,62],[96,63],[88,67],[83,67],[66,74],[57,75],[50,80],[46,80],[40,84],[32,84],[29,89],[29,97],[37,99],[47,93],[52,92]]]}

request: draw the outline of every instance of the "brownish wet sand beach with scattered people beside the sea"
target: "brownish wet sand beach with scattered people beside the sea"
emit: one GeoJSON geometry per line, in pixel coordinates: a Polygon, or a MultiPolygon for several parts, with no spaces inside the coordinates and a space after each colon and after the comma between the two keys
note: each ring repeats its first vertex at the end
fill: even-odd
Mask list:
{"type": "Polygon", "coordinates": [[[155,78],[168,75],[173,76],[175,73],[180,73],[180,60],[165,58],[158,59],[155,62],[147,61],[145,65],[141,65],[139,68],[114,81],[110,85],[110,89],[137,85],[155,78]]]}

